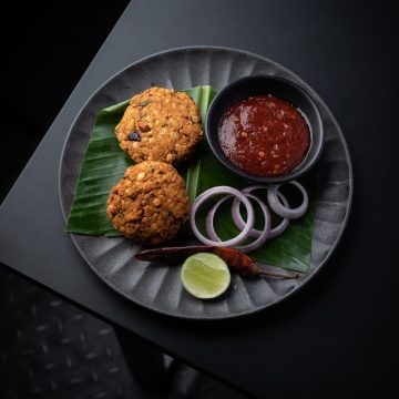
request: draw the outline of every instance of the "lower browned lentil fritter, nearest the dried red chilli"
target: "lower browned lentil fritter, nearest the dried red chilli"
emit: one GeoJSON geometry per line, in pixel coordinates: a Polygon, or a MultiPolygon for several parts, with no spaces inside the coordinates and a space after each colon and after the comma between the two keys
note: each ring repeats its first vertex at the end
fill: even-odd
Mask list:
{"type": "Polygon", "coordinates": [[[111,190],[106,207],[116,231],[151,245],[173,238],[188,212],[184,180],[172,165],[156,161],[127,167],[111,190]]]}

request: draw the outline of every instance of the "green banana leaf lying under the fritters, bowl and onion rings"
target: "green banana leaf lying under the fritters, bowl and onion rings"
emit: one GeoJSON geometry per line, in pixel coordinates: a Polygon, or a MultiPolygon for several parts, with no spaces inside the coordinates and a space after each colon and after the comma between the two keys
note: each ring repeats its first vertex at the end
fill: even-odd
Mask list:
{"type": "MultiPolygon", "coordinates": [[[[202,121],[205,122],[207,109],[216,95],[216,90],[211,86],[197,86],[185,92],[193,98],[200,108],[202,121]]],[[[71,214],[66,224],[66,232],[119,236],[120,233],[112,228],[106,216],[106,201],[111,187],[123,176],[127,166],[133,161],[120,149],[114,135],[114,129],[121,120],[129,101],[100,111],[93,129],[88,149],[81,165],[75,196],[71,214]]],[[[180,168],[186,181],[187,193],[193,202],[197,195],[207,188],[217,185],[229,185],[244,188],[247,183],[223,167],[213,155],[206,142],[203,142],[188,165],[180,168]]],[[[305,216],[293,221],[287,231],[279,237],[267,242],[259,249],[248,255],[258,262],[284,267],[297,272],[307,272],[310,263],[311,237],[315,218],[315,195],[317,171],[314,168],[300,180],[309,195],[309,209],[305,216]]],[[[290,204],[300,201],[295,191],[285,188],[284,192],[290,204]]],[[[266,193],[257,192],[264,196],[266,193]]],[[[205,215],[212,202],[203,206],[197,215],[198,227],[205,232],[205,215]]],[[[256,227],[262,228],[263,214],[255,207],[256,227]]],[[[245,217],[245,212],[243,212],[245,217]]],[[[273,225],[279,223],[274,217],[273,225]]],[[[228,239],[239,232],[231,216],[231,203],[226,201],[215,216],[216,233],[222,239],[228,239]]]]}

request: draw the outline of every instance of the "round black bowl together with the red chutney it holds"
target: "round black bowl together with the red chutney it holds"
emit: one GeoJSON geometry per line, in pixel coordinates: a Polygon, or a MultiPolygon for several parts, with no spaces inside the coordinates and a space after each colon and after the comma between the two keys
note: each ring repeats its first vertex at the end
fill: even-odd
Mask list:
{"type": "Polygon", "coordinates": [[[308,171],[324,139],[310,95],[268,75],[246,76],[223,89],[209,108],[206,135],[223,165],[260,183],[286,182],[308,171]]]}

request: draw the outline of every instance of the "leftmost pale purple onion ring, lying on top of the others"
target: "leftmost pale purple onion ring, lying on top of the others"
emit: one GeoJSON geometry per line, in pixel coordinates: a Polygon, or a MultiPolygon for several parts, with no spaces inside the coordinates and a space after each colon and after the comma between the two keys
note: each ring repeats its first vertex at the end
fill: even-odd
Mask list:
{"type": "Polygon", "coordinates": [[[195,236],[205,245],[213,245],[213,246],[218,246],[218,247],[222,247],[222,246],[228,247],[228,246],[238,245],[243,239],[248,237],[249,231],[254,227],[254,221],[255,221],[254,208],[253,208],[249,200],[244,194],[242,194],[238,190],[228,187],[228,186],[212,187],[212,188],[205,191],[204,193],[202,193],[201,195],[198,195],[193,203],[192,212],[190,215],[190,224],[191,224],[191,227],[192,227],[195,236]],[[197,209],[200,208],[200,206],[205,201],[207,201],[209,197],[212,197],[214,195],[218,195],[218,194],[234,195],[235,197],[237,197],[242,201],[242,203],[245,205],[245,207],[247,209],[247,223],[246,223],[245,227],[243,228],[243,231],[236,237],[234,237],[232,239],[227,239],[225,242],[212,241],[212,239],[205,237],[198,231],[198,227],[196,226],[196,223],[195,223],[195,214],[196,214],[197,209]]]}

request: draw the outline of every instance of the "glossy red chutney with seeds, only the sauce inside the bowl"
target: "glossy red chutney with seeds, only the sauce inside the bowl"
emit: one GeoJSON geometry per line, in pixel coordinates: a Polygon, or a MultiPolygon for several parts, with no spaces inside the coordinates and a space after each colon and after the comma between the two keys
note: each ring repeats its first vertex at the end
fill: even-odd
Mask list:
{"type": "Polygon", "coordinates": [[[294,170],[310,145],[304,116],[273,95],[249,96],[232,105],[222,117],[218,136],[228,160],[257,176],[278,176],[294,170]]]}

